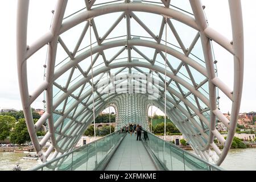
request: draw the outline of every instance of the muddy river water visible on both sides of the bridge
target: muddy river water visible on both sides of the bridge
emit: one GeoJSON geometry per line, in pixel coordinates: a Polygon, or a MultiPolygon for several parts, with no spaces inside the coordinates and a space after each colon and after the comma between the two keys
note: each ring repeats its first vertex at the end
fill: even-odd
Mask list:
{"type": "MultiPolygon", "coordinates": [[[[12,170],[17,163],[22,170],[30,169],[41,163],[39,160],[23,159],[25,155],[16,152],[0,152],[0,171],[12,170]]],[[[230,149],[221,167],[226,170],[256,170],[256,148],[230,149]]]]}

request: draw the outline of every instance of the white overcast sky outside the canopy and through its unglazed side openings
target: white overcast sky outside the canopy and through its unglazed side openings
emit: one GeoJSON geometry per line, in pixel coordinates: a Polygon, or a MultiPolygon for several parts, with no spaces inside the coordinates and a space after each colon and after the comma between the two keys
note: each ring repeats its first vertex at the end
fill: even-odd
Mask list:
{"type": "MultiPolygon", "coordinates": [[[[228,1],[204,0],[202,2],[203,5],[206,6],[205,13],[207,14],[209,26],[232,40],[228,1]]],[[[30,17],[30,22],[34,24],[34,28],[28,30],[28,43],[31,43],[34,39],[38,38],[38,36],[49,30],[49,24],[51,23],[52,17],[51,10],[53,10],[54,7],[55,1],[30,1],[30,12],[31,14],[36,14],[36,16],[30,17]]],[[[256,111],[256,61],[254,57],[256,41],[256,23],[254,20],[256,17],[255,7],[256,1],[242,0],[245,37],[245,74],[240,108],[241,112],[256,111]]],[[[0,17],[0,50],[2,56],[0,67],[0,107],[22,109],[18,88],[18,76],[16,74],[16,0],[0,1],[0,17]]],[[[46,52],[46,49],[42,49],[41,54],[38,56],[45,56],[44,52],[46,52]]],[[[214,44],[214,53],[216,60],[218,61],[218,77],[229,85],[230,88],[233,88],[233,57],[216,44],[214,44]]],[[[32,68],[40,65],[40,71],[37,71],[37,69],[30,69],[30,79],[28,81],[34,88],[36,88],[38,83],[43,80],[42,65],[45,60],[41,59],[40,61],[40,63],[36,61],[31,63],[32,68]]],[[[222,112],[227,113],[228,110],[231,110],[231,102],[222,93],[220,93],[220,97],[220,109],[222,112]]],[[[35,102],[32,107],[43,108],[43,103],[39,100],[35,102]]]]}

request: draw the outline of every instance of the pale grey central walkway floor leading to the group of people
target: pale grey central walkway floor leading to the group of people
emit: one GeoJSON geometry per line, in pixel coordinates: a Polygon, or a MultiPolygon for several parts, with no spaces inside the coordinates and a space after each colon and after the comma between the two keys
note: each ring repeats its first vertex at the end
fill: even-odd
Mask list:
{"type": "Polygon", "coordinates": [[[105,171],[156,171],[142,142],[136,138],[134,134],[126,135],[105,171]]]}

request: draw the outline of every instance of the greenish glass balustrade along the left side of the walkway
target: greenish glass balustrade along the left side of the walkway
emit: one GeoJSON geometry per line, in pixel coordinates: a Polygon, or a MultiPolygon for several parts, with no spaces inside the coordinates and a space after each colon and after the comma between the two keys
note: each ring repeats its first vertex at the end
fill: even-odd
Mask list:
{"type": "Polygon", "coordinates": [[[40,164],[32,171],[92,171],[100,166],[101,162],[109,155],[111,151],[118,147],[124,137],[124,133],[115,131],[106,135],[104,138],[94,140],[76,150],[61,155],[46,163],[40,164]]]}

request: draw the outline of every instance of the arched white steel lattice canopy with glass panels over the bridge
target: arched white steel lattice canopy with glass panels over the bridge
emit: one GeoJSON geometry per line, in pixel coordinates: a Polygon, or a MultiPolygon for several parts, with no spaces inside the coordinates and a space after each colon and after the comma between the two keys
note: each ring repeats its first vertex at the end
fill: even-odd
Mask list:
{"type": "Polygon", "coordinates": [[[243,83],[241,2],[229,0],[232,41],[208,26],[200,0],[179,1],[184,5],[180,7],[170,0],[82,2],[84,7],[65,16],[65,10],[74,4],[68,4],[67,0],[57,1],[51,28],[29,46],[29,1],[18,2],[20,96],[28,131],[40,159],[46,162],[53,150],[53,158],[72,150],[93,121],[93,97],[96,116],[106,107],[114,106],[118,128],[129,122],[141,122],[147,128],[148,107],[155,105],[164,110],[164,83],[167,81],[167,116],[189,140],[197,155],[220,165],[232,144],[240,110],[243,83]],[[104,24],[106,22],[108,24],[104,24]],[[168,34],[164,32],[165,27],[168,34]],[[90,28],[92,44],[88,36],[90,28]],[[211,41],[234,56],[233,89],[217,77],[211,41]],[[27,60],[44,46],[48,47],[44,81],[30,93],[27,60]],[[91,53],[93,65],[90,64],[91,53]],[[67,58],[61,59],[59,54],[67,58]],[[165,60],[167,80],[164,79],[165,60]],[[142,78],[129,80],[126,73],[137,73],[142,78]],[[122,79],[109,80],[110,75],[122,79]],[[148,100],[152,93],[147,90],[143,94],[137,93],[141,86],[133,86],[132,90],[121,86],[115,92],[109,92],[122,82],[143,85],[143,75],[158,82],[156,99],[148,100]],[[103,83],[108,86],[100,86],[103,83]],[[102,89],[108,92],[101,93],[99,90],[102,89]],[[232,101],[230,121],[218,109],[218,89],[232,101]],[[31,104],[42,93],[46,98],[45,113],[34,124],[31,104]],[[216,130],[217,119],[228,127],[226,140],[216,130]],[[39,142],[36,131],[46,122],[48,133],[39,142]],[[224,145],[222,151],[213,142],[214,137],[224,145]],[[48,139],[51,139],[51,146],[43,152],[48,139]]]}

